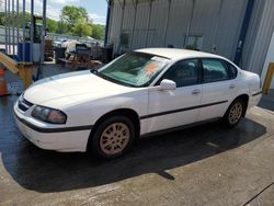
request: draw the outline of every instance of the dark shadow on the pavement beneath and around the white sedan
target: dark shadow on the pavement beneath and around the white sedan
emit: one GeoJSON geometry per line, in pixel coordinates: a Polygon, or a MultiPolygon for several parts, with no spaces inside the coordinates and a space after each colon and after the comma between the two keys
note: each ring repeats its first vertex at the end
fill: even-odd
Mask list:
{"type": "MultiPolygon", "coordinates": [[[[7,111],[1,112],[11,114],[11,110],[7,111]]],[[[9,126],[0,124],[0,153],[5,170],[24,188],[41,193],[93,187],[146,173],[173,181],[167,170],[240,147],[266,133],[263,125],[249,118],[232,129],[215,122],[142,139],[124,157],[104,161],[85,153],[42,150],[21,136],[12,117],[5,121],[9,126]]]]}

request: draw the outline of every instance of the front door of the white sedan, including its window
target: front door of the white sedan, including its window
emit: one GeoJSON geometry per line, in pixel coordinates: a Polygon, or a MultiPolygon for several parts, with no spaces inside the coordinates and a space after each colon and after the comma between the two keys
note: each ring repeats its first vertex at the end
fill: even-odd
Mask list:
{"type": "Polygon", "coordinates": [[[198,59],[182,60],[174,64],[158,81],[163,79],[176,83],[175,90],[149,91],[148,115],[145,116],[147,133],[163,130],[191,124],[197,121],[202,99],[198,84],[198,59]]]}

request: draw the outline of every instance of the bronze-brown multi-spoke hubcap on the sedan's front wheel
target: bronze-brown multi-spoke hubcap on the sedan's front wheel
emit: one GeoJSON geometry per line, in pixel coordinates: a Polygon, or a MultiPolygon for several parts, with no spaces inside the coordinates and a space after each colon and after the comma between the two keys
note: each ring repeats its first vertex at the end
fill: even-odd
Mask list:
{"type": "Polygon", "coordinates": [[[124,123],[107,126],[101,135],[100,147],[106,154],[116,154],[125,149],[129,141],[129,129],[124,123]]]}

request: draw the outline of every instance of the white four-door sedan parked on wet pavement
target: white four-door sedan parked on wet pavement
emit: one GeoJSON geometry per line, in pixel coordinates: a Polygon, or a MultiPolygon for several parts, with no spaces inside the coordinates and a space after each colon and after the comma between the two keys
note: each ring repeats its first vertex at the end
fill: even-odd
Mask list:
{"type": "Polygon", "coordinates": [[[43,149],[115,158],[144,136],[222,118],[237,125],[261,99],[258,75],[193,50],[146,48],[96,71],[32,84],[15,102],[22,134],[43,149]]]}

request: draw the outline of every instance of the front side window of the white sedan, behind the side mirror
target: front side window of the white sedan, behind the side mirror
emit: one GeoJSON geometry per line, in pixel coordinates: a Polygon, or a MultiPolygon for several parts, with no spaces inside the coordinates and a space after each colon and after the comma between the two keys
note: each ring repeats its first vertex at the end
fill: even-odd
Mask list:
{"type": "Polygon", "coordinates": [[[189,59],[176,62],[161,77],[160,81],[163,79],[174,81],[178,88],[196,84],[198,82],[198,60],[189,59]]]}

